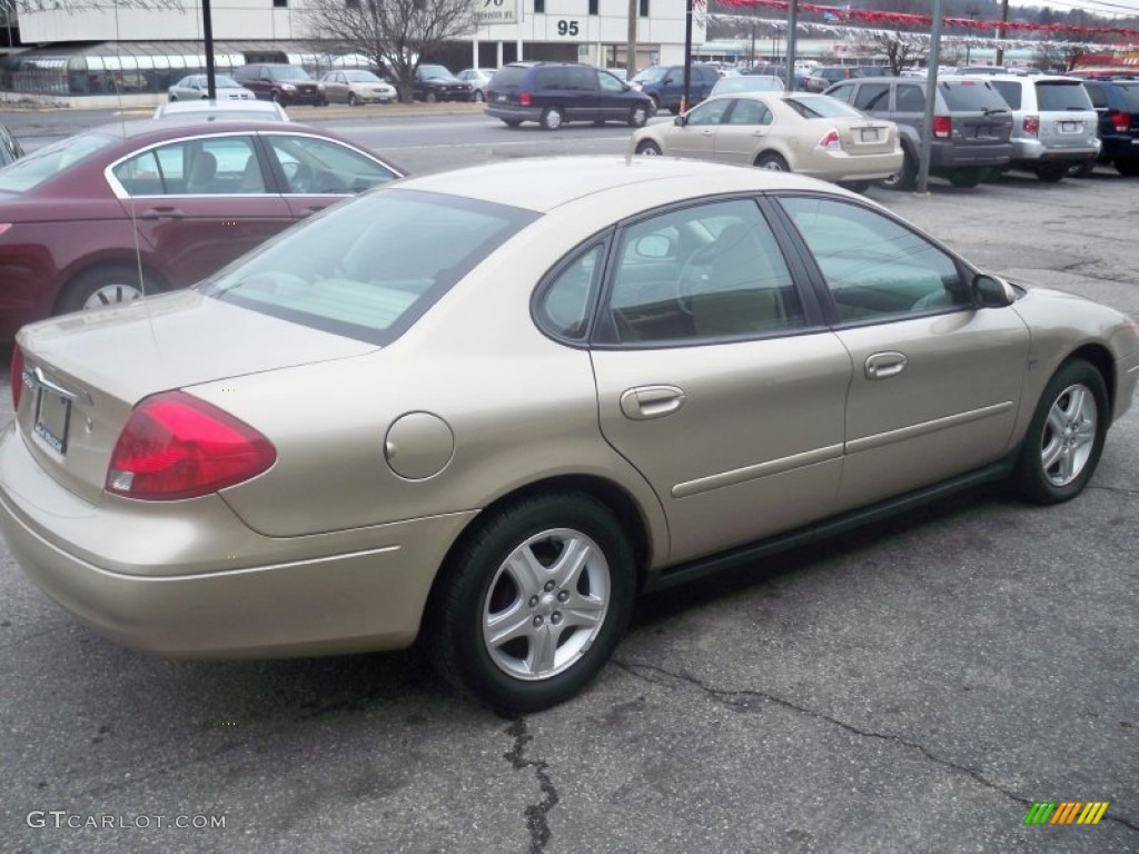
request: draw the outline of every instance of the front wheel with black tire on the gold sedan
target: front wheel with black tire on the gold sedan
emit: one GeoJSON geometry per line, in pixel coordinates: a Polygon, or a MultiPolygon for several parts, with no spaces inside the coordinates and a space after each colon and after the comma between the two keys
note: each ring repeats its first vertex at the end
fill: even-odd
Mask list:
{"type": "Polygon", "coordinates": [[[1035,504],[1075,498],[1096,471],[1108,417],[1103,375],[1082,359],[1062,364],[1040,395],[1013,488],[1035,504]]]}

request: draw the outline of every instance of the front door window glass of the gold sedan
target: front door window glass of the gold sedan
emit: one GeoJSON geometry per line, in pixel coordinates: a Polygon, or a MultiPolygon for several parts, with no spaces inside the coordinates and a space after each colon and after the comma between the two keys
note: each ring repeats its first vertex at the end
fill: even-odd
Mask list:
{"type": "Polygon", "coordinates": [[[814,196],[781,204],[822,272],[838,322],[972,305],[952,256],[888,216],[814,196]]]}

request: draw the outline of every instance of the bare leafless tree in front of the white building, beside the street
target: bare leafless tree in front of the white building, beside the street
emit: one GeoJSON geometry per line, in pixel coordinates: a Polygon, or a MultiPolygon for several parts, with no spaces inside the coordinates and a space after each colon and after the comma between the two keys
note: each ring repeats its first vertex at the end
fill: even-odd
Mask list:
{"type": "Polygon", "coordinates": [[[310,0],[308,19],[317,38],[391,71],[402,101],[420,57],[474,30],[470,0],[310,0]]]}

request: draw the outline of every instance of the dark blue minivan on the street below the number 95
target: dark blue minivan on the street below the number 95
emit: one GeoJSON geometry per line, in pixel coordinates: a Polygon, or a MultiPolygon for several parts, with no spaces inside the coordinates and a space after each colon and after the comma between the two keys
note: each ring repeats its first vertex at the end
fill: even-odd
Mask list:
{"type": "Polygon", "coordinates": [[[486,90],[486,115],[508,128],[538,122],[556,131],[566,122],[624,122],[640,128],[653,99],[601,68],[579,63],[510,63],[486,90]]]}

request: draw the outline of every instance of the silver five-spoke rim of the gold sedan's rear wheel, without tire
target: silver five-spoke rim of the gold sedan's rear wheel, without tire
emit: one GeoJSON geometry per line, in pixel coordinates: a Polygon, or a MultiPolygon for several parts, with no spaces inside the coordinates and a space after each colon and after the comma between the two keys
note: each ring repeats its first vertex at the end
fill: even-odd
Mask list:
{"type": "Polygon", "coordinates": [[[483,605],[491,660],[518,679],[549,679],[592,646],[609,607],[609,564],[587,534],[543,531],[499,567],[483,605]]]}

